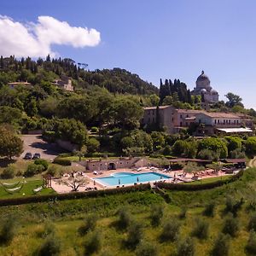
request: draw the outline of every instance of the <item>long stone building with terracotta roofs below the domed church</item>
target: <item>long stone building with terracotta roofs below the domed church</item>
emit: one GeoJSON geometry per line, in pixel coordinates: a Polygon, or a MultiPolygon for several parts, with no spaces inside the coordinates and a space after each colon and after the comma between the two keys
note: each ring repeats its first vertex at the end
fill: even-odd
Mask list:
{"type": "Polygon", "coordinates": [[[147,125],[154,124],[156,121],[170,134],[178,133],[195,124],[196,136],[218,134],[220,131],[226,133],[247,133],[252,132],[253,128],[252,119],[248,117],[241,118],[241,116],[235,113],[175,109],[172,106],[144,108],[144,115],[141,120],[142,125],[146,127],[147,125]]]}

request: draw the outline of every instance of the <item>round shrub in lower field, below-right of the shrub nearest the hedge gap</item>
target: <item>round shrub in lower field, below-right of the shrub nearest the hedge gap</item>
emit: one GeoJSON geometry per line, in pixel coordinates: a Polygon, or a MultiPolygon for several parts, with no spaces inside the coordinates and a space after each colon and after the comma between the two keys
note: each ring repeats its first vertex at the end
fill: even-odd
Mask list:
{"type": "Polygon", "coordinates": [[[160,235],[162,241],[175,241],[179,234],[180,223],[177,219],[171,219],[163,226],[163,230],[160,235]]]}

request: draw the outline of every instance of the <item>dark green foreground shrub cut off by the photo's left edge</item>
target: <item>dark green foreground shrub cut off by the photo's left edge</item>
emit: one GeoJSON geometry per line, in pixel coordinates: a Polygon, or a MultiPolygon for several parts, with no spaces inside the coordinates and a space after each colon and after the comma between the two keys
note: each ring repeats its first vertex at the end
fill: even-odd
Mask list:
{"type": "Polygon", "coordinates": [[[9,244],[15,237],[16,232],[16,220],[15,218],[7,218],[2,226],[0,231],[0,243],[9,244]]]}

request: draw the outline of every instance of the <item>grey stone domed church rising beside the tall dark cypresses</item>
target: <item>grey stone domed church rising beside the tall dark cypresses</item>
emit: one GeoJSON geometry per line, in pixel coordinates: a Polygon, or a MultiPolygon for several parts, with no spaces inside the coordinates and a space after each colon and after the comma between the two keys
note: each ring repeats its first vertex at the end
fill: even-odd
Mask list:
{"type": "Polygon", "coordinates": [[[202,96],[204,102],[218,102],[218,91],[212,90],[211,81],[204,73],[204,71],[202,71],[201,75],[196,79],[195,84],[196,87],[191,91],[192,95],[202,96]]]}

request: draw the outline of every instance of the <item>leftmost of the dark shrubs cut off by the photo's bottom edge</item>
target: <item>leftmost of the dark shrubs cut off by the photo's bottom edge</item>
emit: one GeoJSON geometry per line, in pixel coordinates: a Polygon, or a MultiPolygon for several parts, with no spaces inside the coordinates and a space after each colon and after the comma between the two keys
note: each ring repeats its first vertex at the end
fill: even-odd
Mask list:
{"type": "Polygon", "coordinates": [[[43,243],[38,249],[39,256],[54,256],[61,252],[61,241],[60,239],[51,234],[45,238],[43,243]]]}

